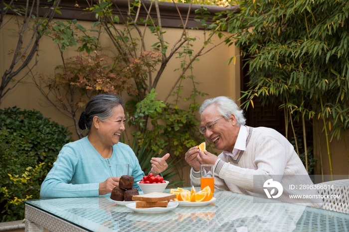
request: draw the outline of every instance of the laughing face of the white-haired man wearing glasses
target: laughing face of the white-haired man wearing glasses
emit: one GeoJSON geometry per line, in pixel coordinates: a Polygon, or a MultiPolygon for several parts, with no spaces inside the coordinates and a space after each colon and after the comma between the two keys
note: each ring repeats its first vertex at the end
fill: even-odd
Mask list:
{"type": "MultiPolygon", "coordinates": [[[[216,105],[212,104],[205,108],[201,113],[200,126],[205,126],[207,123],[217,120],[222,117],[217,110],[216,105]]],[[[206,129],[203,135],[210,140],[218,150],[232,151],[235,145],[239,126],[236,126],[236,119],[233,114],[226,120],[224,117],[217,120],[212,129],[206,129]]]]}

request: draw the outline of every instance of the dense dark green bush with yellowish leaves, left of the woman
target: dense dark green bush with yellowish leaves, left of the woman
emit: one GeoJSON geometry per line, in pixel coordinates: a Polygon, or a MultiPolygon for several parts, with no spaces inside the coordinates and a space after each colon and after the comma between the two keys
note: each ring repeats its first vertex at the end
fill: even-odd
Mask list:
{"type": "Polygon", "coordinates": [[[62,146],[70,141],[66,127],[38,111],[7,108],[0,113],[0,217],[24,218],[24,203],[38,199],[40,186],[62,146]]]}

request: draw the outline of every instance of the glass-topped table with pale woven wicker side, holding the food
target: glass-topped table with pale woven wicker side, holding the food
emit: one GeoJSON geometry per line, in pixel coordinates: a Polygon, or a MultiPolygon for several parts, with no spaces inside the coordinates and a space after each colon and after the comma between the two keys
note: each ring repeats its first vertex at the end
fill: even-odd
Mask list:
{"type": "MultiPolygon", "coordinates": [[[[169,192],[169,189],[166,190],[169,192]]],[[[109,195],[25,201],[25,231],[50,232],[348,232],[349,214],[290,203],[254,203],[252,196],[215,190],[206,206],[136,213],[109,195]]]]}

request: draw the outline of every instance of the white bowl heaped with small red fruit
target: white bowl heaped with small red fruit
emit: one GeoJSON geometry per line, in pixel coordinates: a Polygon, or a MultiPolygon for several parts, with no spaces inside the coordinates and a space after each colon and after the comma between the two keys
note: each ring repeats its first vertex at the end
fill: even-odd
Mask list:
{"type": "Polygon", "coordinates": [[[153,173],[149,173],[148,176],[144,176],[141,181],[137,182],[144,194],[152,192],[162,193],[169,183],[169,181],[164,180],[164,177],[160,175],[154,176],[153,173]]]}

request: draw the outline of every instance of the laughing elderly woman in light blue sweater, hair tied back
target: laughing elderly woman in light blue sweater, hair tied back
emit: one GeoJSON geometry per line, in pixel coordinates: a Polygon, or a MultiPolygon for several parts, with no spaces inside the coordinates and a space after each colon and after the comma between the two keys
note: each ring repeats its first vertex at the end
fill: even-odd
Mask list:
{"type": "MultiPolygon", "coordinates": [[[[110,193],[119,186],[116,164],[129,164],[130,175],[137,181],[144,176],[130,146],[119,142],[125,130],[123,100],[112,94],[92,98],[80,116],[79,127],[88,136],[64,145],[56,162],[41,185],[41,198],[94,197],[110,193]]],[[[166,159],[153,157],[151,172],[166,170],[166,159]]]]}

